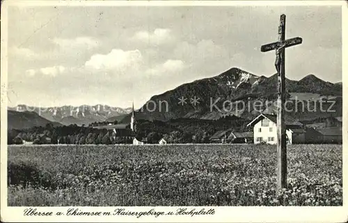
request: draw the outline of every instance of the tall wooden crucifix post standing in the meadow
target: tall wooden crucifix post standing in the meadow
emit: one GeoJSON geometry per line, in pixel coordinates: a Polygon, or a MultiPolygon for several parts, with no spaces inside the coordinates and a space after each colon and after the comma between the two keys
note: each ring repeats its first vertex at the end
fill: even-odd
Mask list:
{"type": "Polygon", "coordinates": [[[276,50],[276,70],[278,73],[278,101],[277,101],[277,189],[287,187],[287,156],[286,156],[286,126],[285,126],[285,48],[302,43],[302,38],[296,37],[285,40],[285,15],[280,15],[278,27],[278,42],[265,44],[262,52],[276,50]]]}

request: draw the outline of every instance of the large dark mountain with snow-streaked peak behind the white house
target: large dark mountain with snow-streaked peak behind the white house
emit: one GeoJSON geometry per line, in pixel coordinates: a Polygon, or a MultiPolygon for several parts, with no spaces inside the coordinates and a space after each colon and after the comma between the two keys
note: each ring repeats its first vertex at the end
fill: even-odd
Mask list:
{"type": "MultiPolygon", "coordinates": [[[[336,101],[334,108],[337,114],[334,115],[342,115],[342,85],[323,81],[313,74],[299,81],[286,79],[285,84],[287,99],[291,99],[296,94],[301,94],[302,97],[305,94],[315,94],[317,95],[315,97],[317,99],[320,99],[322,95],[331,96],[336,101]]],[[[237,67],[232,67],[226,72],[213,76],[212,78],[184,83],[173,90],[151,97],[150,101],[155,101],[157,108],[150,111],[153,108],[153,103],[148,104],[149,110],[146,109],[145,104],[142,109],[136,112],[136,117],[138,119],[157,119],[164,122],[180,118],[220,119],[226,115],[252,119],[260,113],[260,109],[248,108],[248,110],[241,111],[237,109],[240,106],[240,102],[243,101],[244,104],[247,104],[248,101],[251,104],[254,101],[268,100],[275,102],[277,91],[277,74],[269,77],[257,76],[237,67]],[[181,97],[186,99],[183,105],[179,103],[181,97]],[[191,99],[195,97],[198,99],[198,103],[191,104],[191,99]],[[168,102],[168,111],[166,111],[166,104],[161,103],[161,101],[168,102]]],[[[276,107],[274,106],[274,108],[276,107]]],[[[327,108],[329,108],[329,105],[327,105],[327,108]]],[[[265,108],[261,108],[261,111],[263,109],[265,108]]],[[[274,109],[269,108],[267,112],[272,113],[274,109]]],[[[303,119],[333,115],[320,111],[311,113],[307,108],[301,113],[288,114],[303,119]]],[[[122,122],[129,122],[129,117],[127,115],[122,119],[122,122]]]]}

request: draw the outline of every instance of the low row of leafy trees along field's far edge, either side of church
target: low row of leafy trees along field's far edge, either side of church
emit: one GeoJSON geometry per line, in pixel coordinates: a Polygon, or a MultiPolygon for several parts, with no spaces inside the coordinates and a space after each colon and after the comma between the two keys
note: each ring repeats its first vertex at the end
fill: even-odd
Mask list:
{"type": "MultiPolygon", "coordinates": [[[[22,144],[24,141],[33,142],[33,144],[131,144],[133,141],[132,136],[119,137],[112,131],[104,129],[79,127],[80,131],[72,131],[70,128],[74,129],[74,126],[64,127],[65,130],[70,130],[65,134],[62,133],[61,127],[38,132],[33,131],[33,129],[11,130],[8,132],[8,144],[22,144]]],[[[207,132],[203,131],[198,131],[195,135],[180,131],[171,131],[166,134],[152,131],[147,135],[143,135],[143,133],[136,135],[136,138],[139,140],[146,138],[146,142],[152,144],[158,143],[161,138],[164,138],[168,143],[206,143],[209,142],[209,136],[207,132]]]]}

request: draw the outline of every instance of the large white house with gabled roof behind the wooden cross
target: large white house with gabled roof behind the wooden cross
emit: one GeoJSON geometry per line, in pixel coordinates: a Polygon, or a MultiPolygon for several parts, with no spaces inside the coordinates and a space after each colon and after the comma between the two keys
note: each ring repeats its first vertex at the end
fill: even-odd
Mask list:
{"type": "MultiPolygon", "coordinates": [[[[276,115],[261,114],[247,126],[253,126],[254,144],[266,142],[277,144],[277,117],[276,115]]],[[[303,124],[298,120],[285,116],[287,144],[301,144],[305,142],[303,124]]]]}

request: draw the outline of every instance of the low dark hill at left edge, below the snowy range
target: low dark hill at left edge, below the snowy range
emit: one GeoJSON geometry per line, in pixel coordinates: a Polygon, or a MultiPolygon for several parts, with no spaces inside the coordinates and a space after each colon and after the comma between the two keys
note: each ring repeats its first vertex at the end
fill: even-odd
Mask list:
{"type": "Polygon", "coordinates": [[[34,112],[17,112],[15,110],[8,110],[8,129],[29,129],[34,126],[46,126],[46,124],[49,123],[54,126],[62,126],[62,124],[58,122],[50,122],[34,112]]]}

